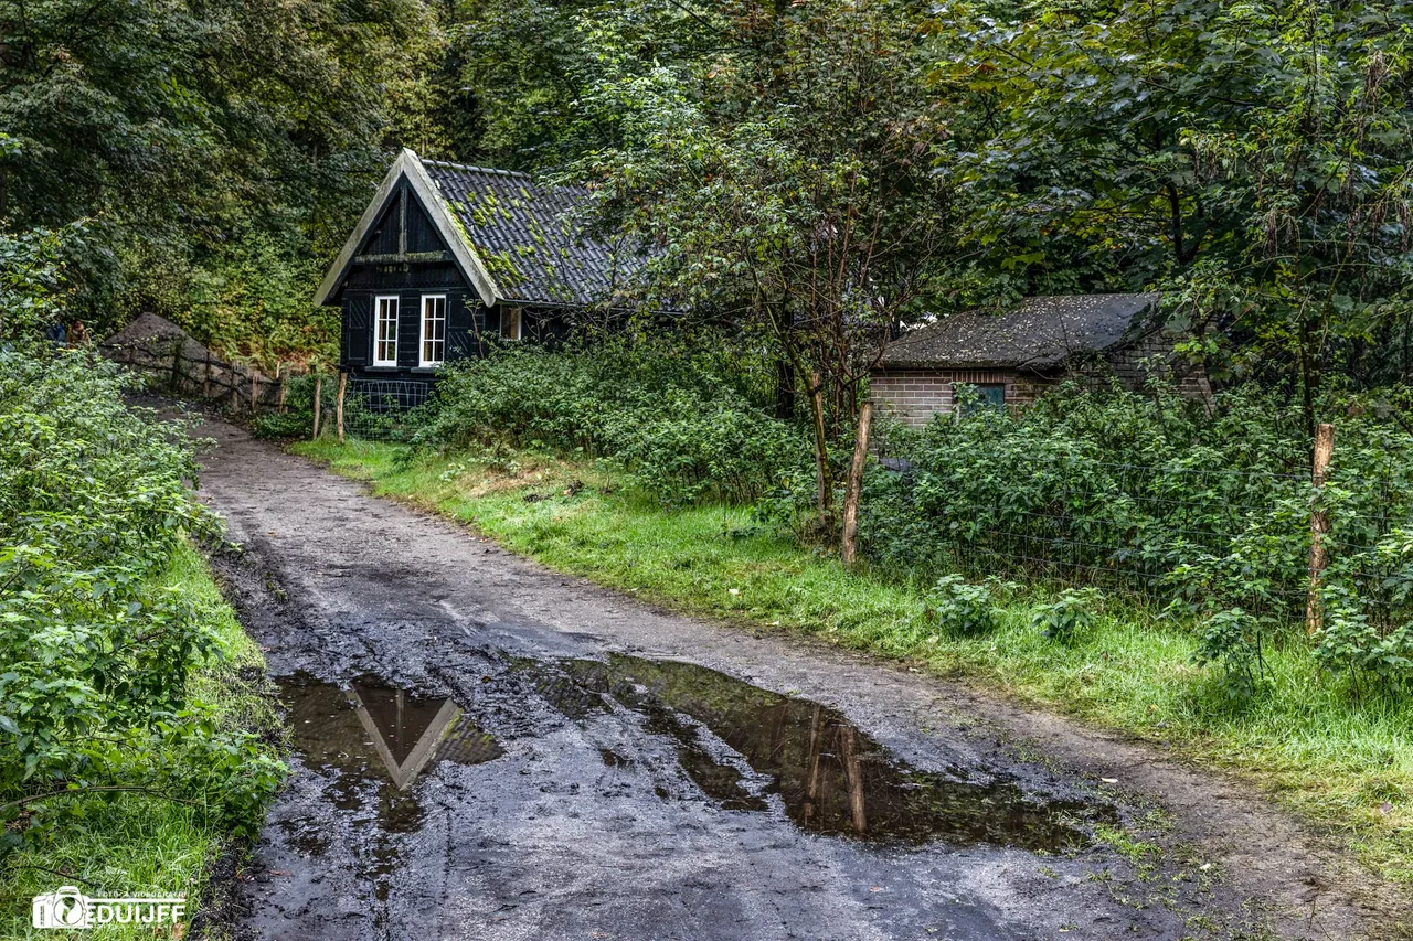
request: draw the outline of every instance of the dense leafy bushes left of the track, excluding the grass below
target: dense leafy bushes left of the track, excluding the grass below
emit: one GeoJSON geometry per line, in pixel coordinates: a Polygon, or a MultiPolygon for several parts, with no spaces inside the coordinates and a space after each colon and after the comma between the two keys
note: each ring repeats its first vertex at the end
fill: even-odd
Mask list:
{"type": "Polygon", "coordinates": [[[182,428],[123,391],[88,350],[0,348],[0,805],[141,788],[249,829],[280,764],[188,698],[222,649],[209,612],[154,588],[218,524],[182,428]]]}

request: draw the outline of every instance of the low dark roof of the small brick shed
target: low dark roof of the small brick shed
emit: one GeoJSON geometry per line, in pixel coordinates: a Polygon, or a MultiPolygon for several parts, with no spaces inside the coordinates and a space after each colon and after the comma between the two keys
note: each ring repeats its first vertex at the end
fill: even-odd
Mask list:
{"type": "Polygon", "coordinates": [[[965,311],[889,343],[879,369],[1047,369],[1157,329],[1157,294],[1027,297],[1003,314],[965,311]]]}

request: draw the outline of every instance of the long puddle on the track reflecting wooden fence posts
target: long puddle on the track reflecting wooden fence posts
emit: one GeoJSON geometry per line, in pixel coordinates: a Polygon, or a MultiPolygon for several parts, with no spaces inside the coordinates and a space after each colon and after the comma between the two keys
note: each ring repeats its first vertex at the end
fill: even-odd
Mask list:
{"type": "Polygon", "coordinates": [[[1006,780],[920,770],[835,709],[705,667],[616,654],[560,668],[569,684],[541,674],[537,690],[569,718],[593,712],[584,692],[598,709],[610,697],[643,715],[646,732],[673,740],[688,777],[722,807],[766,811],[779,794],[790,821],[811,834],[1063,852],[1091,842],[1082,821],[1116,819],[1112,807],[1041,801],[1006,780]]]}

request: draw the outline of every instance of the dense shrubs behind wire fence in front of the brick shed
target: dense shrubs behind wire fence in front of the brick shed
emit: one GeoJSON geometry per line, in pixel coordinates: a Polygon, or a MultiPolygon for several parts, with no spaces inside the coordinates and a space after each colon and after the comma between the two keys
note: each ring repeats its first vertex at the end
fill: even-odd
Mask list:
{"type": "MultiPolygon", "coordinates": [[[[1310,480],[1299,403],[1255,387],[1214,414],[1170,390],[1064,387],[1022,411],[885,428],[909,473],[875,468],[861,531],[893,571],[1013,574],[1140,591],[1207,619],[1207,663],[1242,685],[1251,619],[1304,617],[1310,513],[1328,513],[1320,656],[1382,682],[1413,677],[1413,435],[1399,401],[1321,403],[1327,485],[1310,480]],[[1231,613],[1241,610],[1238,617],[1231,613]],[[1239,623],[1238,623],[1239,622],[1239,623]],[[1246,639],[1246,640],[1242,640],[1246,639]]],[[[1249,684],[1246,684],[1249,685],[1249,684]]]]}

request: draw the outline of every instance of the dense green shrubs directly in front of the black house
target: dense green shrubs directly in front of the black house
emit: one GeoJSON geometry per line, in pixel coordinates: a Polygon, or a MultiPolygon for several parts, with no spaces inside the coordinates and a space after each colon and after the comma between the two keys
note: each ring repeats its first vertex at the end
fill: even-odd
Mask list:
{"type": "Polygon", "coordinates": [[[807,445],[738,376],[667,342],[504,349],[444,373],[418,439],[602,456],[668,506],[750,500],[805,461],[807,445]]]}

